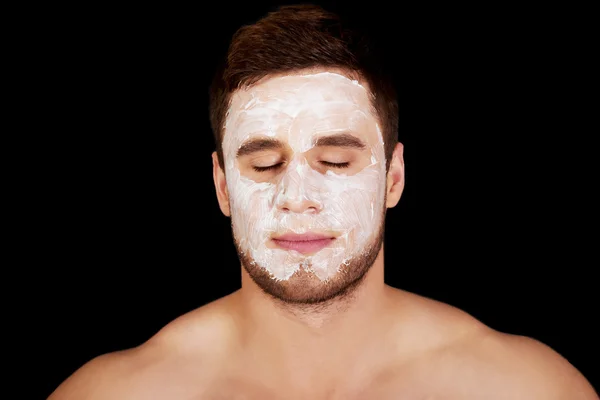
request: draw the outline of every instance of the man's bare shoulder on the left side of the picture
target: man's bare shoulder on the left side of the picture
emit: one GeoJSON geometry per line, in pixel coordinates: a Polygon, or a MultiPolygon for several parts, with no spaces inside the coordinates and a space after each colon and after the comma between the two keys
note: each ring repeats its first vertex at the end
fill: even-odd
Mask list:
{"type": "Polygon", "coordinates": [[[233,321],[226,312],[228,297],[182,315],[138,347],[88,361],[48,400],[160,399],[201,394],[230,350],[233,321]],[[194,390],[197,392],[190,392],[194,390]]]}

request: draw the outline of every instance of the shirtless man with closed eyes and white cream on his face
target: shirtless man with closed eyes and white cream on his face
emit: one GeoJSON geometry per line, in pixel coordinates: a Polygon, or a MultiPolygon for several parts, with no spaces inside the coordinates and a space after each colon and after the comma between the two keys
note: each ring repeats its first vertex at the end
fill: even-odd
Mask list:
{"type": "Polygon", "coordinates": [[[313,6],[234,35],[211,123],[242,288],[91,360],[50,399],[598,399],[544,344],[384,283],[403,145],[368,49],[313,6]]]}

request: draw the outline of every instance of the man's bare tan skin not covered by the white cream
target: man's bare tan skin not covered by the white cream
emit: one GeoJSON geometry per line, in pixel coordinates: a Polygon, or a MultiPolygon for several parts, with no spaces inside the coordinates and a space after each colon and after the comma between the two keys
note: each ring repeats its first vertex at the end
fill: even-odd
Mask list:
{"type": "MultiPolygon", "coordinates": [[[[355,134],[378,145],[369,133],[355,134]]],[[[244,173],[248,165],[239,165],[244,173]]],[[[216,154],[213,173],[220,208],[231,216],[236,210],[216,154]]],[[[404,188],[402,144],[383,174],[380,195],[391,208],[404,188]]],[[[304,271],[280,281],[293,298],[285,300],[241,260],[240,290],[177,318],[136,348],[89,361],[49,399],[598,399],[543,343],[386,285],[383,255],[381,246],[351,290],[334,274],[338,295],[317,303],[309,299],[331,292],[322,279],[304,271]]]]}

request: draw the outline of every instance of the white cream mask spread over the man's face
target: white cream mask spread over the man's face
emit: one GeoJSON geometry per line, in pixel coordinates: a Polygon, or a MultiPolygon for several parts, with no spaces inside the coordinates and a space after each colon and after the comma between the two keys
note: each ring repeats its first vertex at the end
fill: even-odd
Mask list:
{"type": "Polygon", "coordinates": [[[305,268],[330,279],[374,239],[383,218],[385,153],[369,93],[358,82],[330,72],[271,78],[234,94],[224,132],[234,236],[273,278],[286,280],[305,268]],[[359,170],[309,161],[318,139],[341,133],[365,144],[356,157],[363,160],[359,170]],[[240,168],[238,150],[259,138],[284,144],[285,159],[272,150],[259,153],[261,166],[284,161],[278,170],[240,168]],[[273,244],[273,236],[290,232],[336,239],[308,255],[273,244]]]}

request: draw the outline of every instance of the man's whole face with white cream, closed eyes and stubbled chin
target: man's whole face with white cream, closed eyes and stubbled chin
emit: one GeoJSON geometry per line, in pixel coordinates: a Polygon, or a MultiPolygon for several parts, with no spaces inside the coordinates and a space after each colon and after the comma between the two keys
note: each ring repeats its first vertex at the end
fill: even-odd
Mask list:
{"type": "Polygon", "coordinates": [[[364,275],[381,247],[386,189],[366,88],[323,72],[238,91],[223,153],[236,247],[265,291],[316,302],[364,275]]]}

